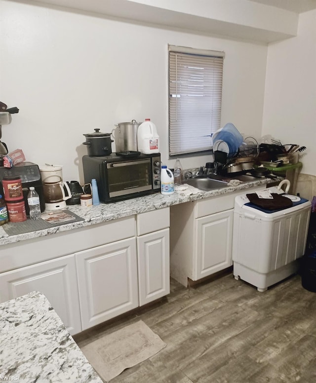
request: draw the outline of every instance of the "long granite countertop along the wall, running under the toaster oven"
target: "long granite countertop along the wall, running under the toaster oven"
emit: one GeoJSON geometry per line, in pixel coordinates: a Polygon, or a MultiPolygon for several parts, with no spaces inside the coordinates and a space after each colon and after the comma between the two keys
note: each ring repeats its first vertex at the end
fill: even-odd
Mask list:
{"type": "MultiPolygon", "coordinates": [[[[90,225],[100,224],[103,222],[115,220],[118,218],[123,218],[131,216],[134,214],[145,213],[147,211],[161,209],[163,207],[176,205],[179,203],[195,201],[199,199],[209,198],[216,195],[222,195],[231,193],[233,191],[249,189],[254,186],[265,185],[271,180],[266,178],[258,178],[255,181],[244,182],[238,186],[229,186],[221,189],[215,189],[212,191],[200,191],[197,194],[183,195],[174,193],[171,195],[162,195],[160,193],[154,193],[142,197],[127,199],[124,201],[113,202],[113,203],[100,203],[97,206],[91,207],[81,207],[80,205],[69,205],[67,209],[75,213],[77,216],[82,218],[82,221],[71,222],[68,224],[62,224],[59,226],[49,227],[42,230],[32,230],[31,221],[27,221],[30,224],[30,232],[9,235],[3,229],[3,226],[0,227],[0,245],[5,245],[9,243],[15,243],[26,239],[42,237],[49,234],[54,234],[57,232],[73,230],[77,228],[82,228],[90,225]]],[[[11,225],[13,223],[8,223],[5,225],[11,225]]],[[[14,223],[14,225],[19,226],[19,224],[25,223],[14,223]]]]}

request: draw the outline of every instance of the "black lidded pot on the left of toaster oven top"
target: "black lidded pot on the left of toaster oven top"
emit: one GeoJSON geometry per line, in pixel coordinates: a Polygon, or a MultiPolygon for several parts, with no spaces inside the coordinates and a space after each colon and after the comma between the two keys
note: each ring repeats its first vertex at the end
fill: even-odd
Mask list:
{"type": "Polygon", "coordinates": [[[83,145],[87,146],[88,155],[99,157],[102,155],[110,155],[112,153],[111,133],[102,133],[100,129],[94,129],[94,133],[84,134],[85,142],[83,145]]]}

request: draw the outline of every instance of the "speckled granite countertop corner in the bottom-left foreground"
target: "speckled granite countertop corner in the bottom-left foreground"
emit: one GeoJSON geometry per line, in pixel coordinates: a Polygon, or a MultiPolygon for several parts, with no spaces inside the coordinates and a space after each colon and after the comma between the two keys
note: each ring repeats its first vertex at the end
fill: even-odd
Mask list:
{"type": "Polygon", "coordinates": [[[45,296],[0,304],[0,381],[102,383],[45,296]]]}

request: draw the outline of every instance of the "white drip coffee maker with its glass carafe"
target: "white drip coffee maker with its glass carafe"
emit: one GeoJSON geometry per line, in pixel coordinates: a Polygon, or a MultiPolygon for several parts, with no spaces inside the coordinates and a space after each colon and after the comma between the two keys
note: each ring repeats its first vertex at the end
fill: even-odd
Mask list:
{"type": "Polygon", "coordinates": [[[43,184],[45,210],[64,209],[66,200],[71,198],[72,195],[67,183],[63,182],[62,167],[54,165],[40,166],[40,174],[43,184]]]}

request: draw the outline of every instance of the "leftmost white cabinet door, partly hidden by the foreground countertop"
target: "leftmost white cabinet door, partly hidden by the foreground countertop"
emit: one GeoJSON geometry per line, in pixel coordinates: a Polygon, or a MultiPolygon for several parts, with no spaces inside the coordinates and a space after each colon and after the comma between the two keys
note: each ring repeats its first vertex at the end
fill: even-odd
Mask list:
{"type": "Polygon", "coordinates": [[[40,291],[71,335],[81,331],[74,255],[17,268],[0,274],[0,301],[40,291]]]}

